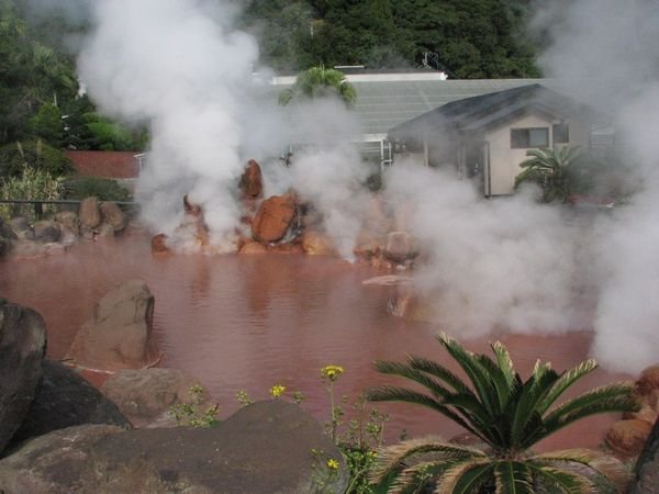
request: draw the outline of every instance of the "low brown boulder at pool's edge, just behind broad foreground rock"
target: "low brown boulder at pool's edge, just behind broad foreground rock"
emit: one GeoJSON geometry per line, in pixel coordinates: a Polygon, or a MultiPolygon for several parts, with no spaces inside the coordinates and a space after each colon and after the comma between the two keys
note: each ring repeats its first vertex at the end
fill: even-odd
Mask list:
{"type": "MultiPolygon", "coordinates": [[[[190,388],[198,383],[198,379],[178,369],[121,370],[103,383],[101,391],[135,427],[172,427],[177,424],[169,411],[172,405],[192,402],[190,388]]],[[[201,404],[204,409],[206,405],[212,403],[201,404]]]]}

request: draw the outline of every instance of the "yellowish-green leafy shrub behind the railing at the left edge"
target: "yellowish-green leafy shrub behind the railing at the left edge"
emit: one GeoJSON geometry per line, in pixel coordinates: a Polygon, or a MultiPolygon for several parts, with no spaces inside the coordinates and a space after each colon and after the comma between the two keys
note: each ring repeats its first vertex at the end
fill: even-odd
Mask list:
{"type": "MultiPolygon", "coordinates": [[[[0,178],[0,199],[57,201],[62,199],[63,182],[62,177],[54,178],[44,170],[23,167],[23,173],[20,177],[0,178]]],[[[54,204],[43,207],[45,214],[55,212],[54,204]]],[[[29,221],[36,220],[32,206],[0,203],[0,216],[10,220],[18,215],[25,216],[29,221]]]]}

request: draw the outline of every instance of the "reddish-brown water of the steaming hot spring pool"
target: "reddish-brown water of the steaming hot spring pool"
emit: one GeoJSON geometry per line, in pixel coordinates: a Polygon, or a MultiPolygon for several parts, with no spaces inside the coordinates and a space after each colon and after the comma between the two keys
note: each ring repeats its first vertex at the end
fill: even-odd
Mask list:
{"type": "MultiPolygon", "coordinates": [[[[378,383],[377,359],[416,353],[451,361],[434,339],[439,329],[387,314],[387,288],[365,287],[369,267],[330,258],[289,255],[154,257],[148,240],[85,244],[66,255],[0,262],[0,296],[38,311],[48,327],[48,353],[62,358],[94,303],[121,282],[141,278],[155,297],[155,336],[165,352],[163,367],[200,378],[216,397],[222,416],[238,407],[236,392],[268,397],[273,384],[306,396],[303,406],[319,420],[328,416],[320,369],[344,367],[338,395],[355,398],[378,383]]],[[[460,339],[460,335],[454,335],[460,339]]],[[[562,370],[588,356],[590,334],[512,336],[507,345],[523,375],[536,359],[562,370]]],[[[488,338],[462,340],[474,351],[488,350],[488,338]]],[[[576,391],[621,377],[597,370],[576,391]]],[[[402,429],[411,435],[460,431],[446,419],[413,405],[380,404],[390,414],[389,441],[402,429]]],[[[548,447],[595,446],[613,417],[602,416],[568,427],[548,447]]]]}

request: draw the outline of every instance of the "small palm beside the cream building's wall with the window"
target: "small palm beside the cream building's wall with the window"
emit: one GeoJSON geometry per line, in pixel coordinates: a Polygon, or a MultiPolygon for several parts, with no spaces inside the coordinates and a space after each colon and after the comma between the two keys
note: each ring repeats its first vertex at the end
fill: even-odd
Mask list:
{"type": "Polygon", "coordinates": [[[579,147],[529,149],[529,159],[520,164],[524,170],[515,178],[515,189],[523,182],[534,182],[543,190],[543,202],[566,202],[571,192],[571,169],[581,158],[579,147]]]}

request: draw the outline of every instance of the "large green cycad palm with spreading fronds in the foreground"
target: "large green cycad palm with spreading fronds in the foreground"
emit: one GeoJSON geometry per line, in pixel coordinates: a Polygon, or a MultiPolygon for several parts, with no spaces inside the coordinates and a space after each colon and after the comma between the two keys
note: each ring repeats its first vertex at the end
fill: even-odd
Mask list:
{"type": "Polygon", "coordinates": [[[544,454],[529,451],[539,440],[583,417],[606,412],[638,409],[628,383],[596,388],[556,405],[574,382],[596,368],[593,359],[557,373],[536,362],[523,381],[506,348],[493,344],[495,359],[465,350],[446,334],[437,339],[471,382],[437,362],[410,357],[406,362],[377,361],[386,374],[410,379],[420,392],[381,386],[368,393],[371,401],[402,401],[427,406],[461,425],[487,447],[478,449],[437,437],[412,439],[379,452],[371,479],[393,479],[392,492],[418,487],[424,479],[437,493],[623,492],[627,476],[619,461],[603,452],[571,449],[544,454]]]}

